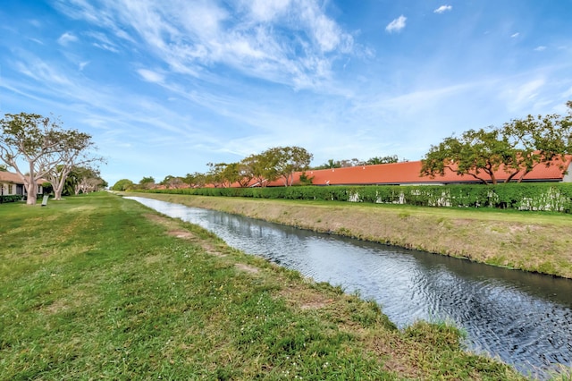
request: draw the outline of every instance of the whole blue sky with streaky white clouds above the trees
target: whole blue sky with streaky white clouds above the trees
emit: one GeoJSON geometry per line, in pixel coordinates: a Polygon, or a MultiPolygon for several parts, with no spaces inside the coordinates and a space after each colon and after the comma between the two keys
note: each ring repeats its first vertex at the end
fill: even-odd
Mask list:
{"type": "Polygon", "coordinates": [[[0,114],[93,136],[113,185],[277,146],[419,160],[572,99],[572,0],[46,0],[0,6],[0,114]]]}

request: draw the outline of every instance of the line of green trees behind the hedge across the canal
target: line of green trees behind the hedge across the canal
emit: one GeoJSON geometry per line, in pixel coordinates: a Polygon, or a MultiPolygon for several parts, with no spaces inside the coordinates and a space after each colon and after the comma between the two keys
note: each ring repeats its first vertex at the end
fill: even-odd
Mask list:
{"type": "MultiPolygon", "coordinates": [[[[445,174],[451,171],[474,177],[485,184],[496,184],[495,173],[503,169],[509,174],[505,182],[521,182],[537,165],[551,165],[555,159],[564,162],[572,152],[572,101],[568,101],[568,114],[528,115],[513,119],[501,128],[488,127],[468,130],[459,137],[452,135],[437,146],[431,146],[421,160],[420,176],[445,174]]],[[[310,167],[312,154],[300,147],[269,148],[236,163],[208,163],[204,174],[195,172],[184,177],[168,175],[158,184],[153,177],[144,177],[139,183],[122,179],[114,190],[154,189],[162,185],[167,189],[228,188],[238,184],[241,188],[255,184],[265,187],[269,182],[281,180],[285,187],[292,185],[294,174],[301,172],[300,184],[309,185],[312,178],[305,171],[333,169],[361,165],[381,165],[407,162],[397,155],[372,157],[366,161],[357,158],[329,159],[323,165],[310,167]]],[[[562,171],[567,168],[561,167],[562,171]]]]}

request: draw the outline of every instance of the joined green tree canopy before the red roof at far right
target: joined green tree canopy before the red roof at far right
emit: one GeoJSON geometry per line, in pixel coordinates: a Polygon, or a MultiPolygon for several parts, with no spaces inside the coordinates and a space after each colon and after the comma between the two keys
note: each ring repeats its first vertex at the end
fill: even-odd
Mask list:
{"type": "MultiPolygon", "coordinates": [[[[520,182],[536,165],[552,165],[572,152],[572,102],[568,115],[528,115],[501,128],[469,130],[432,146],[422,160],[422,175],[450,170],[492,184],[501,168],[504,182],[520,182]],[[486,174],[486,176],[484,175],[486,174]]],[[[560,168],[565,171],[566,168],[560,168]]]]}

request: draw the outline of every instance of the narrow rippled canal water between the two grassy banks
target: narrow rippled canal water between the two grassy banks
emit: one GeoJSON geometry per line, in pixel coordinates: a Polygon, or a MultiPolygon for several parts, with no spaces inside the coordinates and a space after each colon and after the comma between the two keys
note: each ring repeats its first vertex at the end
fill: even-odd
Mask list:
{"type": "Polygon", "coordinates": [[[313,233],[155,199],[135,199],[198,224],[234,248],[377,301],[400,327],[449,320],[467,348],[543,378],[572,366],[572,281],[313,233]]]}

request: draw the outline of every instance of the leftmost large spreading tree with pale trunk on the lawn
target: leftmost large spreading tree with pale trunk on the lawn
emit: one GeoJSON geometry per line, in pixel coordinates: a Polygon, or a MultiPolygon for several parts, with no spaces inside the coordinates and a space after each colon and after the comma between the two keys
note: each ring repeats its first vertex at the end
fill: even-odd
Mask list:
{"type": "Polygon", "coordinates": [[[21,177],[27,203],[33,205],[38,197],[38,181],[60,164],[58,153],[67,148],[70,135],[79,132],[64,131],[59,121],[39,114],[5,114],[0,123],[0,159],[21,177]],[[21,161],[27,164],[26,171],[21,170],[21,161]]]}

